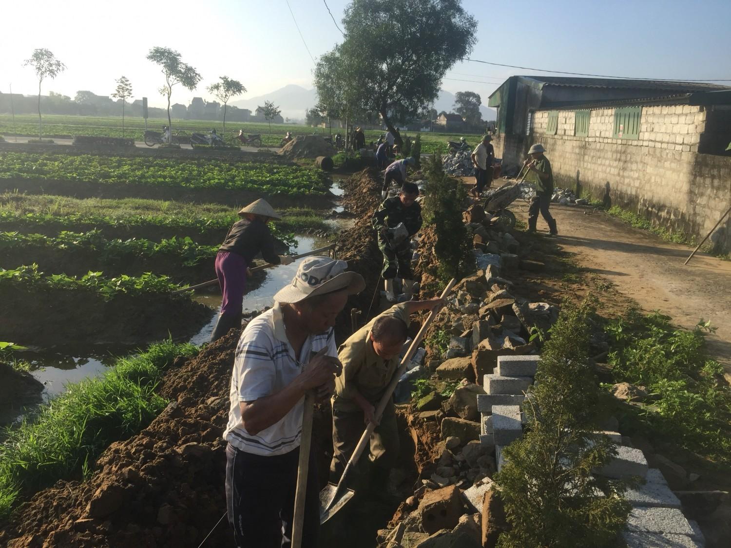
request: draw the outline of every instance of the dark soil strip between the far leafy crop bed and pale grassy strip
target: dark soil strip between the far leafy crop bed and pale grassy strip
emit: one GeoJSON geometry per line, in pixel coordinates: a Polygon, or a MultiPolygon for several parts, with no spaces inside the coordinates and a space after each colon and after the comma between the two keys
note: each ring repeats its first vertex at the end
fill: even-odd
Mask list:
{"type": "Polygon", "coordinates": [[[82,180],[0,178],[0,191],[26,194],[53,194],[75,198],[146,198],[171,199],[178,202],[219,203],[240,208],[255,199],[264,198],[274,208],[322,208],[332,202],[333,194],[262,194],[256,191],[229,189],[185,189],[179,186],[143,185],[137,183],[92,183],[82,180]]]}

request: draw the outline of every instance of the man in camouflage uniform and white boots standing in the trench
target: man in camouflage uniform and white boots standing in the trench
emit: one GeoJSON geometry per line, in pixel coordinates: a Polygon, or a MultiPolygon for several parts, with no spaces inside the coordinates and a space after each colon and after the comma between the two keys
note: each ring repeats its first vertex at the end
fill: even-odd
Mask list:
{"type": "Polygon", "coordinates": [[[415,201],[419,187],[414,183],[404,183],[398,196],[385,199],[379,205],[371,224],[378,231],[378,247],[383,254],[383,270],[386,299],[395,302],[393,278],[397,275],[404,281],[404,294],[411,299],[414,293],[414,273],[412,272],[411,237],[421,228],[421,206],[415,201]],[[393,229],[404,223],[409,236],[401,241],[394,240],[393,229]]]}

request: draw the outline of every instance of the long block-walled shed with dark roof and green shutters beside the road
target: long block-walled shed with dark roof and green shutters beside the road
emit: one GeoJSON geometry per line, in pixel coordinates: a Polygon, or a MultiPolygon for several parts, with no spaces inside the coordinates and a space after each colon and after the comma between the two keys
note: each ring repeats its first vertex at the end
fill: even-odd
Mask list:
{"type": "MultiPolygon", "coordinates": [[[[557,186],[703,237],[731,203],[731,87],[511,76],[490,96],[495,154],[518,172],[542,144],[557,186]]],[[[731,250],[731,220],[711,235],[731,250]]]]}

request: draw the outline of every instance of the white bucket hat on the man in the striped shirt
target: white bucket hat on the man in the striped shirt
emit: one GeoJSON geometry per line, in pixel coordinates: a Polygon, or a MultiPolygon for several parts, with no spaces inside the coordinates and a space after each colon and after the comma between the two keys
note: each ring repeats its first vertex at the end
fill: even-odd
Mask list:
{"type": "Polygon", "coordinates": [[[356,272],[346,272],[348,263],[330,257],[307,257],[300,263],[292,283],[274,295],[276,302],[300,302],[309,297],[347,289],[355,295],[366,289],[366,281],[356,272]]]}

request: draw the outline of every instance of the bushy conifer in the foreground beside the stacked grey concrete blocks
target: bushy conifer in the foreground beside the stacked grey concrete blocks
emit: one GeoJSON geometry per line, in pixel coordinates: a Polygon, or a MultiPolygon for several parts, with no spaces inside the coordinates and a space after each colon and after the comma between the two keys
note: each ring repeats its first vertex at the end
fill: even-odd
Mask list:
{"type": "Polygon", "coordinates": [[[500,547],[605,547],[624,528],[624,482],[592,474],[616,451],[596,433],[600,392],[588,365],[593,315],[591,302],[564,303],[550,330],[523,406],[526,433],[503,449],[496,476],[512,525],[500,547]]]}

